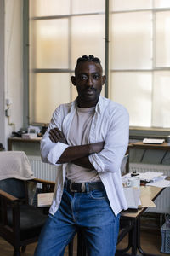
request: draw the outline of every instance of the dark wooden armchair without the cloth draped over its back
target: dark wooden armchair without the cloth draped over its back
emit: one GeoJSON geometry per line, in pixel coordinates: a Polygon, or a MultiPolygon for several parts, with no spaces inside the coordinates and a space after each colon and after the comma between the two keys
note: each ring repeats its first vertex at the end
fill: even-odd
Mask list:
{"type": "Polygon", "coordinates": [[[28,203],[28,186],[32,182],[41,183],[42,192],[54,191],[54,182],[37,178],[0,180],[0,236],[14,247],[14,256],[20,256],[20,247],[25,251],[26,245],[37,241],[47,218],[43,208],[28,203]]]}

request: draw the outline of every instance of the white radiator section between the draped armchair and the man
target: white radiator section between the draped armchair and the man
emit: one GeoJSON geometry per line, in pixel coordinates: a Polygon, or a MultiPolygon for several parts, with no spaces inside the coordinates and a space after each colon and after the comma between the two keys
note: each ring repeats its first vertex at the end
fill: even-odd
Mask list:
{"type": "Polygon", "coordinates": [[[55,181],[59,172],[58,166],[43,163],[40,156],[28,155],[28,159],[35,177],[55,181]]]}

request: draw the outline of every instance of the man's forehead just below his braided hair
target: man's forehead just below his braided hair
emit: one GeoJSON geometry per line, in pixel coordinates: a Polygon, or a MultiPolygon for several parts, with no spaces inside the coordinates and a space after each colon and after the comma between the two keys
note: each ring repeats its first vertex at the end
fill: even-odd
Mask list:
{"type": "Polygon", "coordinates": [[[79,73],[102,73],[102,67],[94,61],[79,62],[75,74],[78,75],[79,73]]]}

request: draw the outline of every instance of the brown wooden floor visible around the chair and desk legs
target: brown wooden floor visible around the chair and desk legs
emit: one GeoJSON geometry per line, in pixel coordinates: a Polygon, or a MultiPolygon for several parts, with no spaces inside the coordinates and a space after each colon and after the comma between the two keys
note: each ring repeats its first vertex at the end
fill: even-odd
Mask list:
{"type": "MultiPolygon", "coordinates": [[[[119,248],[125,247],[127,244],[127,237],[117,246],[119,248]]],[[[21,253],[21,256],[33,256],[37,243],[31,244],[26,247],[26,252],[21,253]]],[[[167,253],[160,253],[161,249],[161,235],[150,232],[141,232],[141,247],[147,253],[157,255],[169,255],[167,253]]],[[[13,247],[0,237],[0,256],[13,256],[13,247]]],[[[140,255],[140,253],[139,253],[140,255]]],[[[65,256],[68,256],[67,248],[65,249],[65,256]]],[[[77,237],[74,241],[74,256],[77,256],[77,237]]]]}

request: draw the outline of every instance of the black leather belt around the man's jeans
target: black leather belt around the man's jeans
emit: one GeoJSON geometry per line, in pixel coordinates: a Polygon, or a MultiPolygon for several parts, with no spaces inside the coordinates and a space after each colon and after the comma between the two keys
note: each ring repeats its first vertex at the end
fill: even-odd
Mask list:
{"type": "Polygon", "coordinates": [[[94,190],[105,190],[102,182],[94,183],[72,183],[70,180],[65,180],[65,188],[68,191],[75,193],[86,193],[94,190]]]}

